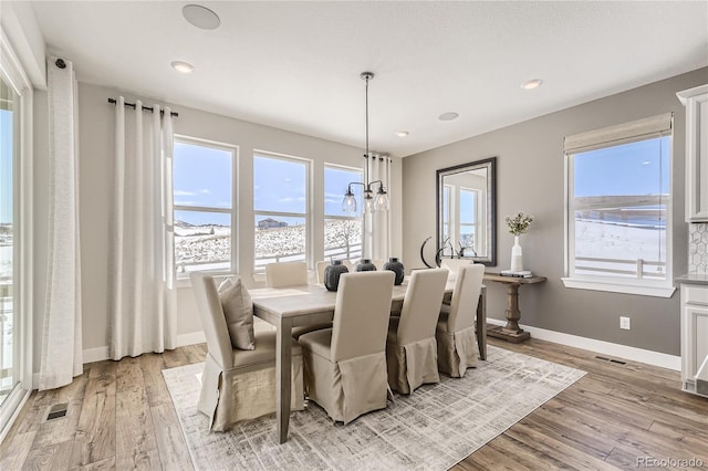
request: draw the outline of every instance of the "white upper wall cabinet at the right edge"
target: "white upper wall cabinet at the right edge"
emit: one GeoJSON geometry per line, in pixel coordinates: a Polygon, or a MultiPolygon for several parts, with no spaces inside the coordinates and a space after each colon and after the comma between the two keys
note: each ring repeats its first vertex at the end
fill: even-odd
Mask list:
{"type": "Polygon", "coordinates": [[[708,222],[708,85],[676,96],[686,106],[686,221],[708,222]]]}

